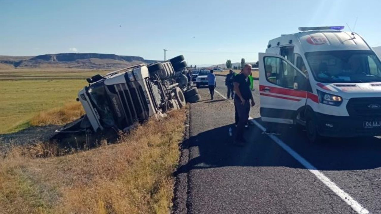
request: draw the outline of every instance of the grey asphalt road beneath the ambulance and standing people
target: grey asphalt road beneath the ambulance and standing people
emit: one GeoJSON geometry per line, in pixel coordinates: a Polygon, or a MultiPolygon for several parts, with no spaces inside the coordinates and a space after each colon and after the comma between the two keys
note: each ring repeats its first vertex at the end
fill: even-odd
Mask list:
{"type": "MultiPolygon", "coordinates": [[[[223,80],[217,77],[216,90],[226,96],[223,80]]],[[[256,105],[250,116],[261,123],[258,85],[255,81],[256,105]]],[[[346,203],[347,197],[362,206],[363,212],[381,213],[380,139],[311,144],[304,130],[281,126],[282,134],[275,138],[315,167],[307,169],[258,126],[247,129],[249,144],[232,145],[232,100],[215,94],[211,101],[207,88],[199,91],[203,101],[192,104],[190,110],[185,148],[189,160],[178,169],[187,175],[186,208],[178,213],[359,213],[356,205],[346,203]],[[336,184],[336,192],[327,180],[336,184]]]]}

